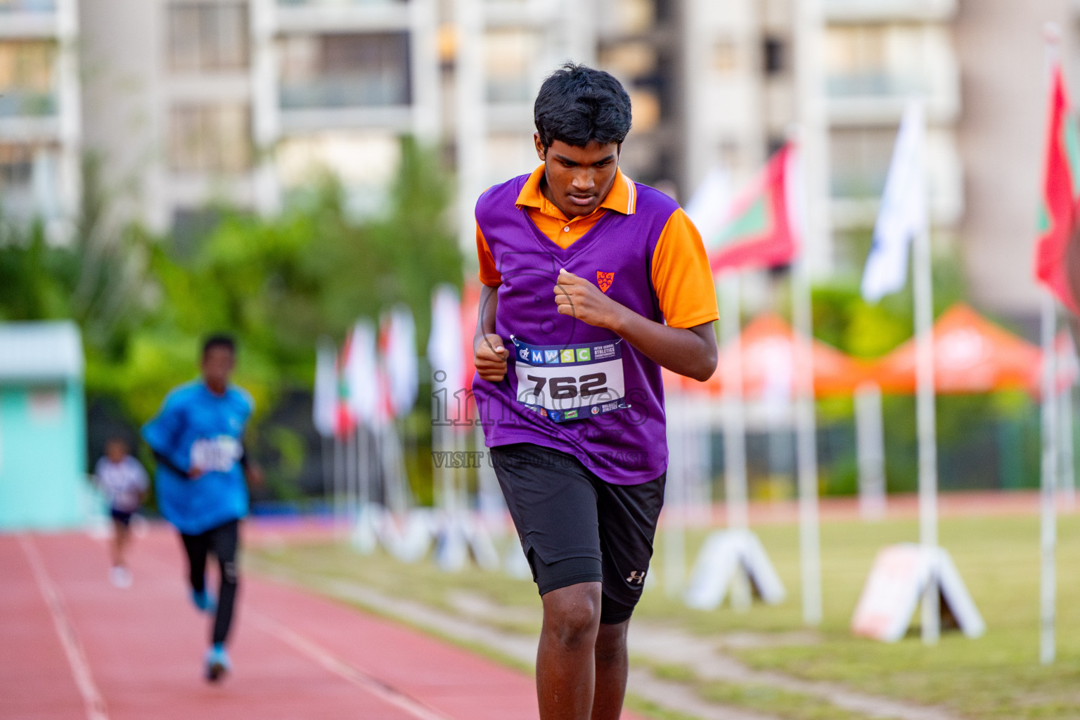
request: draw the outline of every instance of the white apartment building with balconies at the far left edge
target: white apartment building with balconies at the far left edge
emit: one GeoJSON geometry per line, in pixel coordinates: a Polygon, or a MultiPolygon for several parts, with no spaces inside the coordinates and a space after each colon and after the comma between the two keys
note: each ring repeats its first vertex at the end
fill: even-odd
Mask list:
{"type": "Polygon", "coordinates": [[[56,241],[79,202],[78,40],[75,0],[0,0],[0,213],[56,241]]]}

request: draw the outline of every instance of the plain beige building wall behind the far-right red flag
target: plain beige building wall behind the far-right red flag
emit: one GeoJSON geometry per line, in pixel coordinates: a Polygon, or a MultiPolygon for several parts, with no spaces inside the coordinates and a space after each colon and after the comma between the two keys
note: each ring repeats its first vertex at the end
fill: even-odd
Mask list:
{"type": "Polygon", "coordinates": [[[961,250],[972,298],[1038,327],[1036,208],[1047,125],[1043,25],[1057,24],[1074,106],[1080,98],[1080,5],[1074,0],[961,0],[955,38],[962,72],[958,124],[966,207],[961,250]]]}

